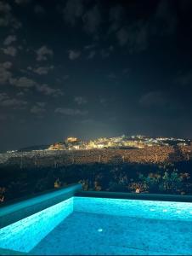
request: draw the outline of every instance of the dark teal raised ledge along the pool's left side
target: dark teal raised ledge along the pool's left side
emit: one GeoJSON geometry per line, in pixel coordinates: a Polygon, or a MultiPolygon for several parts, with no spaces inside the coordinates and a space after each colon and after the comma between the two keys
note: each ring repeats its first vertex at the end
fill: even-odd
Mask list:
{"type": "Polygon", "coordinates": [[[31,216],[43,209],[52,207],[61,201],[71,198],[77,191],[82,189],[81,184],[75,184],[59,189],[54,192],[38,195],[31,199],[14,203],[13,205],[0,207],[0,229],[13,224],[22,218],[31,216]]]}

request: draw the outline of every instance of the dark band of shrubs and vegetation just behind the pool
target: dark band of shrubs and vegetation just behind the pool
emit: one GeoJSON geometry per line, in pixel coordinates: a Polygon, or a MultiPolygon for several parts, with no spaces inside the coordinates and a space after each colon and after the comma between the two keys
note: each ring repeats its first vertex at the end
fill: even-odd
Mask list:
{"type": "Polygon", "coordinates": [[[0,167],[0,201],[71,183],[84,190],[192,195],[192,161],[166,165],[87,164],[57,168],[0,167]]]}

